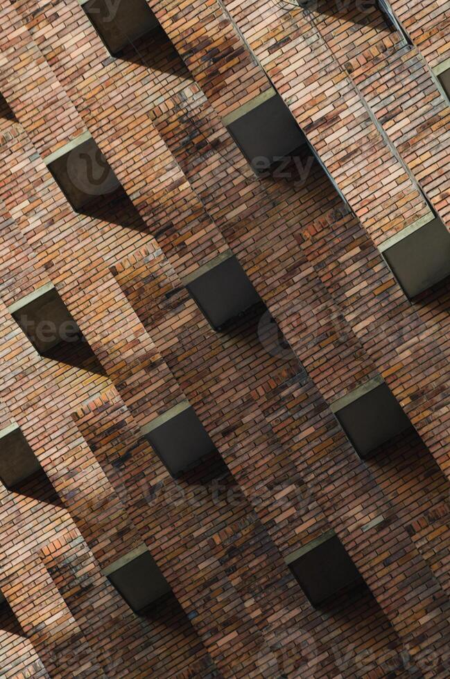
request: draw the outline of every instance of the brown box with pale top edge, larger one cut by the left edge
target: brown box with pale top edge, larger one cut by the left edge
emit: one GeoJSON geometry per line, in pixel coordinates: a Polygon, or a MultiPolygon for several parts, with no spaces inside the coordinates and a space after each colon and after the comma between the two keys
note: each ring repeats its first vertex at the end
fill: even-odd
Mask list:
{"type": "Polygon", "coordinates": [[[18,425],[0,431],[0,479],[9,490],[42,471],[18,425]]]}

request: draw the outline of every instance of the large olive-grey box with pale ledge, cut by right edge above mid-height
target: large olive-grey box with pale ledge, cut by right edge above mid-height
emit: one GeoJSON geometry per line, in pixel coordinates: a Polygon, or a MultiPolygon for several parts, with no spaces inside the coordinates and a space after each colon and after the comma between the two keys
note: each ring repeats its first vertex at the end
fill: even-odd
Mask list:
{"type": "Polygon", "coordinates": [[[380,250],[409,299],[450,274],[450,233],[439,218],[406,227],[380,250]]]}

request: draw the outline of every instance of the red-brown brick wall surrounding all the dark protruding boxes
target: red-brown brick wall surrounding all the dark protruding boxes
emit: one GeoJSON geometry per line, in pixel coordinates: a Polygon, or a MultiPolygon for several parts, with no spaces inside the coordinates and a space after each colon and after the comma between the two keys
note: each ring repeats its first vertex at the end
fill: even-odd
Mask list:
{"type": "Polygon", "coordinates": [[[114,58],[77,0],[1,3],[0,431],[46,477],[0,484],[0,676],[448,677],[450,283],[378,248],[450,228],[450,3],[148,5],[114,58]],[[329,176],[250,167],[223,118],[270,87],[329,176]],[[46,159],[87,130],[126,196],[75,211],[46,159]],[[218,333],[183,280],[228,249],[267,310],[218,333]],[[92,352],[19,328],[46,283],[92,352]],[[363,460],[331,404],[376,376],[414,429],[363,460]],[[184,399],[217,452],[173,477],[141,430],[184,399]],[[330,530],[367,587],[314,607],[286,559],[330,530]],[[142,543],[137,615],[105,569],[142,543]]]}

